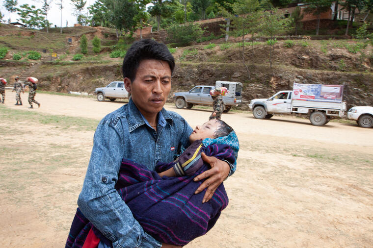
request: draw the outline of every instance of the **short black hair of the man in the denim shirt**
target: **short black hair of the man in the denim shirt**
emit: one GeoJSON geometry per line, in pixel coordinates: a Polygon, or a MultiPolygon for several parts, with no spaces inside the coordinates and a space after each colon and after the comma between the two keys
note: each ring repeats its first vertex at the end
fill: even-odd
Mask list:
{"type": "Polygon", "coordinates": [[[137,68],[144,59],[164,60],[168,62],[171,74],[175,68],[175,59],[166,45],[155,40],[139,40],[132,44],[123,59],[122,72],[123,78],[128,77],[131,82],[135,79],[137,68]]]}

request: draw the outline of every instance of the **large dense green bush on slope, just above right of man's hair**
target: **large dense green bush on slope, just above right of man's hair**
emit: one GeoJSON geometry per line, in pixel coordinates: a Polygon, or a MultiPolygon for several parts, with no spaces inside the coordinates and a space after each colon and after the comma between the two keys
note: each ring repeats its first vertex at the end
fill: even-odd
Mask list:
{"type": "Polygon", "coordinates": [[[201,37],[204,30],[200,25],[189,23],[187,25],[171,25],[167,29],[167,41],[177,43],[179,46],[188,46],[198,37],[201,37]]]}

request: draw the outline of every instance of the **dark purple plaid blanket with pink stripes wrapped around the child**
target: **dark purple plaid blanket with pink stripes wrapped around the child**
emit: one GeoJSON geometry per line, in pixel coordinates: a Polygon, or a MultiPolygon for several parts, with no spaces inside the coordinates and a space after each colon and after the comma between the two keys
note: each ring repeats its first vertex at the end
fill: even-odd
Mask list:
{"type": "MultiPolygon", "coordinates": [[[[203,149],[208,156],[231,163],[236,161],[234,152],[227,145],[213,144],[203,149]]],[[[172,165],[159,164],[157,171],[164,171],[172,165]]],[[[223,184],[217,188],[213,198],[204,204],[202,199],[205,191],[194,194],[202,182],[194,182],[193,178],[208,169],[210,166],[204,164],[191,176],[161,178],[145,166],[123,159],[115,188],[145,232],[161,243],[184,246],[208,232],[228,205],[223,184]]],[[[66,247],[82,247],[91,226],[78,208],[66,247]]],[[[111,246],[111,242],[99,230],[93,227],[93,231],[102,242],[111,246]]]]}

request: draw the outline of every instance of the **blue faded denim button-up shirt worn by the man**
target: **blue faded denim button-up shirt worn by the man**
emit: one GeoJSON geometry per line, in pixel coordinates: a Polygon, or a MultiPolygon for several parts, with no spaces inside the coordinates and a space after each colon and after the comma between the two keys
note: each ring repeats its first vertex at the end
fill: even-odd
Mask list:
{"type": "Polygon", "coordinates": [[[114,248],[161,247],[144,232],[114,188],[122,158],[154,170],[159,161],[172,161],[189,145],[192,131],[184,118],[164,108],[155,131],[132,100],[98,124],[78,206],[114,248]]]}

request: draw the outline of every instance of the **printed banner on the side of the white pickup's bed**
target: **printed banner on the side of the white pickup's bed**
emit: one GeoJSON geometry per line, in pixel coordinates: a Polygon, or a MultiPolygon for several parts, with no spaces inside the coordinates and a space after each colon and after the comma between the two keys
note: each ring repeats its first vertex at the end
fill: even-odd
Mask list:
{"type": "Polygon", "coordinates": [[[343,85],[301,84],[293,85],[293,100],[342,102],[343,85]]]}

